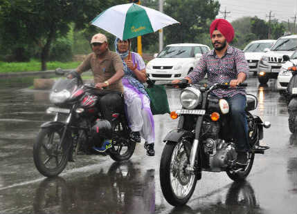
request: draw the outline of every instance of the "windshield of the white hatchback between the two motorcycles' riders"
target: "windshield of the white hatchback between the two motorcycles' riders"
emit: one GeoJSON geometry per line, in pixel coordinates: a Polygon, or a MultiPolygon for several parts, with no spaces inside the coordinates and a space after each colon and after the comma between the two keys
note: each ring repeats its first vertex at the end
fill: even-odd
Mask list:
{"type": "Polygon", "coordinates": [[[194,57],[190,46],[167,46],[157,56],[157,58],[189,58],[194,57]]]}

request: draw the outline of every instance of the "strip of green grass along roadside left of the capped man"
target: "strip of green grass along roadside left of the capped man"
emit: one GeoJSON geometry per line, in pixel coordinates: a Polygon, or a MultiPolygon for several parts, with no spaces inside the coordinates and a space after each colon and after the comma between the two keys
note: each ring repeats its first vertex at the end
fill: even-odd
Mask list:
{"type": "MultiPolygon", "coordinates": [[[[55,68],[73,69],[80,65],[81,61],[48,61],[46,63],[47,70],[55,70],[55,68]]],[[[42,63],[35,59],[28,62],[3,62],[0,61],[0,72],[26,72],[26,71],[40,71],[42,63]]]]}

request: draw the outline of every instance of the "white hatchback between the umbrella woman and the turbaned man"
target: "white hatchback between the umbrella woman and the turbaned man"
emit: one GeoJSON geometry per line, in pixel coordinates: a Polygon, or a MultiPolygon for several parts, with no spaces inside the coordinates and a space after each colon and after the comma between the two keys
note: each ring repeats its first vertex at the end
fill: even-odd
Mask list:
{"type": "Polygon", "coordinates": [[[208,51],[208,46],[199,43],[168,45],[147,63],[147,75],[152,81],[181,79],[193,70],[202,54],[208,51]]]}

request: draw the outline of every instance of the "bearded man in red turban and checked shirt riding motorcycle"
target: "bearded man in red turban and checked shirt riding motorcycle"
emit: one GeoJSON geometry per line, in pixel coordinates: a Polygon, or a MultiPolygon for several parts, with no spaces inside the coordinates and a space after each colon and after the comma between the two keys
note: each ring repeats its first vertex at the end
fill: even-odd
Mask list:
{"type": "MultiPolygon", "coordinates": [[[[248,142],[248,126],[246,121],[246,92],[244,88],[236,88],[249,75],[249,64],[244,53],[229,45],[233,40],[234,29],[225,19],[215,19],[210,24],[210,39],[213,50],[202,55],[190,74],[185,77],[190,84],[195,84],[207,74],[210,84],[229,82],[231,88],[213,90],[216,97],[226,99],[230,106],[231,120],[236,140],[237,164],[245,166],[247,152],[251,150],[248,142]]],[[[180,80],[172,81],[172,84],[180,80]]]]}

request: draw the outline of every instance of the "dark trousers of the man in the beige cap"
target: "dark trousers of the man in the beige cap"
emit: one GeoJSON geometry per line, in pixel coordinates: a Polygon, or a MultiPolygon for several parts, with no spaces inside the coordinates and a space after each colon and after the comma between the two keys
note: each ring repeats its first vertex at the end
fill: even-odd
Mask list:
{"type": "Polygon", "coordinates": [[[123,98],[120,93],[103,95],[100,97],[99,107],[103,118],[107,119],[111,123],[111,126],[113,126],[112,115],[114,113],[123,113],[123,98]]]}

